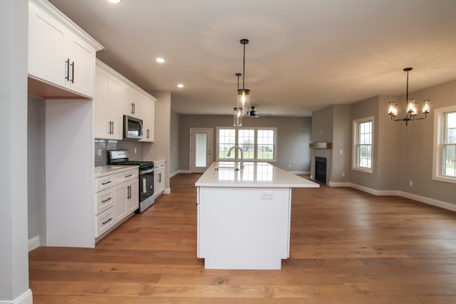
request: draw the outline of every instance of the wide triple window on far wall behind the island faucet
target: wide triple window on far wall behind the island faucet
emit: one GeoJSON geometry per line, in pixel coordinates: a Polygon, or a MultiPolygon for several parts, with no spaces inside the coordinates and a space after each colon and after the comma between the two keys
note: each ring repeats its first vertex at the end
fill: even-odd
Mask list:
{"type": "Polygon", "coordinates": [[[229,149],[239,145],[244,159],[275,162],[276,132],[276,128],[217,127],[217,160],[240,159],[238,150],[227,157],[229,149]]]}

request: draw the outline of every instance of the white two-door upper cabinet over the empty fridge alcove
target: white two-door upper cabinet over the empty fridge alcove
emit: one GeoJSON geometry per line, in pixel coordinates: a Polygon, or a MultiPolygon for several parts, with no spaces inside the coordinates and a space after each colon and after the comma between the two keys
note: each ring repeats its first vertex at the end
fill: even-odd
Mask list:
{"type": "Polygon", "coordinates": [[[28,75],[31,95],[95,96],[95,53],[103,46],[46,0],[28,3],[28,75]],[[39,81],[36,81],[39,80],[39,81]]]}

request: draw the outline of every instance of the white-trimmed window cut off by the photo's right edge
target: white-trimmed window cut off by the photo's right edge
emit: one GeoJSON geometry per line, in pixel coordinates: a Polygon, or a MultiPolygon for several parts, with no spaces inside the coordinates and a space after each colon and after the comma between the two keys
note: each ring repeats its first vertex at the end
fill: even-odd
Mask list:
{"type": "Polygon", "coordinates": [[[432,179],[456,183],[456,106],[434,112],[432,179]]]}

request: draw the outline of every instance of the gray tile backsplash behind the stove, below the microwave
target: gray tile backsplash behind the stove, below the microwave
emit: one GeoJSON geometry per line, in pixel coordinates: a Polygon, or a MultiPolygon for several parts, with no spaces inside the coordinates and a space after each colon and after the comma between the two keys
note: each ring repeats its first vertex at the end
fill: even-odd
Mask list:
{"type": "Polygon", "coordinates": [[[108,164],[109,150],[128,150],[130,160],[142,159],[142,142],[135,140],[95,140],[95,167],[108,164]]]}

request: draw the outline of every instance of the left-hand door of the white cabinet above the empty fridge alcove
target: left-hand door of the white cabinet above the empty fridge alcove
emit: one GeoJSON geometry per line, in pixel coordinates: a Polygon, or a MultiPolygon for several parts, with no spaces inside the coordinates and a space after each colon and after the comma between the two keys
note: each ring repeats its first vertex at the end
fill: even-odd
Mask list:
{"type": "Polygon", "coordinates": [[[65,87],[67,52],[68,28],[29,3],[28,75],[65,87]]]}

